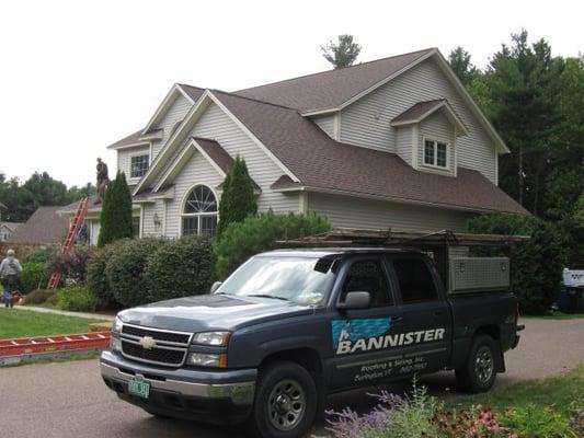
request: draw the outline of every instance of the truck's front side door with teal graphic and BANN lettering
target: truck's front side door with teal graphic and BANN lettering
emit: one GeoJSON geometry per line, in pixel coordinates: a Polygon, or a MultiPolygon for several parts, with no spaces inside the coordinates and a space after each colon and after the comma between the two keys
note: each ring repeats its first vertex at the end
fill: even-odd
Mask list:
{"type": "Polygon", "coordinates": [[[330,331],[332,358],[329,361],[331,389],[369,385],[391,377],[396,351],[385,349],[385,336],[394,327],[396,306],[383,256],[351,260],[341,273],[332,303],[330,331]],[[337,310],[351,291],[370,293],[367,309],[337,310]]]}

